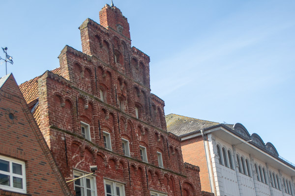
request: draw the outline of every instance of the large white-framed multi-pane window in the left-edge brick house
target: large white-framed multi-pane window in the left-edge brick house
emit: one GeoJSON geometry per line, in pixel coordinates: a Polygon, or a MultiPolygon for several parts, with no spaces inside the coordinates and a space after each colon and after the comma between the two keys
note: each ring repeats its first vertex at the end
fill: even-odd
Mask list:
{"type": "Polygon", "coordinates": [[[25,162],[0,155],[0,189],[27,193],[25,162]]]}

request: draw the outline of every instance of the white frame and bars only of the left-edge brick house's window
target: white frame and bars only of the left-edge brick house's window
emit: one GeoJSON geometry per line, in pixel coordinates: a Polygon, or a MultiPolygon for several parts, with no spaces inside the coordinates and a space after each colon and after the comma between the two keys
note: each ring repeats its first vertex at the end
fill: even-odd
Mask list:
{"type": "Polygon", "coordinates": [[[25,164],[25,162],[10,158],[10,157],[2,156],[2,155],[0,155],[0,159],[3,161],[9,162],[9,172],[5,172],[5,171],[0,170],[0,174],[4,174],[4,175],[9,176],[9,186],[0,185],[0,189],[26,194],[27,193],[27,183],[26,183],[26,164],[25,164]],[[21,165],[22,174],[13,173],[13,167],[12,167],[13,163],[21,165]],[[17,178],[22,179],[22,181],[23,181],[22,182],[22,185],[23,185],[22,189],[13,187],[13,177],[17,177],[17,178]]]}

